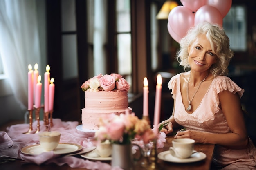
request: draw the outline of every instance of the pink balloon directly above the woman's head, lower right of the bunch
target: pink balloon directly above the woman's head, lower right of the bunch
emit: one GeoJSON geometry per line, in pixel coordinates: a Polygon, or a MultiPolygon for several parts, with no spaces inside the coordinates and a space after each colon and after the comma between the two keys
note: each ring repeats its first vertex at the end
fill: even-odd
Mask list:
{"type": "Polygon", "coordinates": [[[223,20],[220,11],[210,5],[204,5],[195,13],[195,25],[200,22],[210,22],[222,26],[223,20]]]}

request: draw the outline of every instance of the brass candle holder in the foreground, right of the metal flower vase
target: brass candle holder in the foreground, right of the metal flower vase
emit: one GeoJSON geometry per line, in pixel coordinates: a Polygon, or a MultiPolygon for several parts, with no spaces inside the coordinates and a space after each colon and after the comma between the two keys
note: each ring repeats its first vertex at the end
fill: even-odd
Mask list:
{"type": "Polygon", "coordinates": [[[157,138],[153,139],[153,146],[149,156],[149,164],[147,166],[148,170],[160,170],[161,167],[157,163],[157,138]]]}

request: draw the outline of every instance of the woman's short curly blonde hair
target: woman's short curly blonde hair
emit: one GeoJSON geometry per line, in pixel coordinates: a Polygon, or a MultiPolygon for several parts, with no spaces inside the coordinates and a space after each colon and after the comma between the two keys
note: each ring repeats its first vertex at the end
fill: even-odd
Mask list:
{"type": "Polygon", "coordinates": [[[227,75],[227,67],[231,58],[234,56],[234,52],[229,49],[229,38],[224,29],[217,24],[211,24],[209,22],[202,22],[195,25],[180,40],[180,49],[176,54],[180,66],[183,66],[185,71],[190,68],[188,48],[200,34],[206,35],[213,52],[217,56],[217,62],[211,66],[210,72],[213,76],[227,75]]]}

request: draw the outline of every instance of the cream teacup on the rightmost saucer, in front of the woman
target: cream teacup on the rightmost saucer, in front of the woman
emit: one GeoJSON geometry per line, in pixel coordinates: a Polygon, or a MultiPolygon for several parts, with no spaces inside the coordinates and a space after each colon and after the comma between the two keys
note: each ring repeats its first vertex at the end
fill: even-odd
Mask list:
{"type": "Polygon", "coordinates": [[[173,139],[173,147],[169,150],[171,155],[178,158],[188,158],[194,151],[195,140],[189,138],[173,139]]]}

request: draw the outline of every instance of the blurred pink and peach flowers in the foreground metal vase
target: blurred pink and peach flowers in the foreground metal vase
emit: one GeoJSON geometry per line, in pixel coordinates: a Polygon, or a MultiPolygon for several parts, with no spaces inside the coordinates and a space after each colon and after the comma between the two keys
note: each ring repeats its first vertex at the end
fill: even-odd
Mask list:
{"type": "Polygon", "coordinates": [[[142,139],[144,143],[149,143],[156,136],[148,121],[139,119],[135,113],[113,113],[100,118],[95,137],[102,142],[109,140],[112,143],[129,144],[132,139],[142,139]]]}

